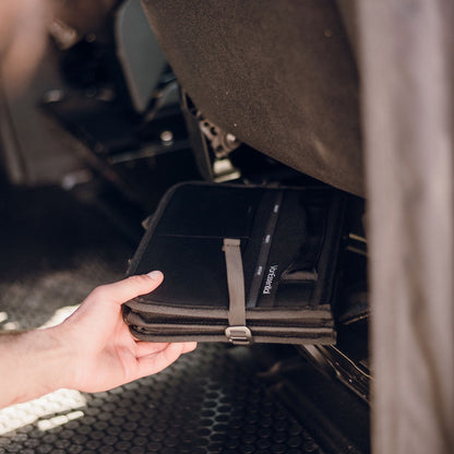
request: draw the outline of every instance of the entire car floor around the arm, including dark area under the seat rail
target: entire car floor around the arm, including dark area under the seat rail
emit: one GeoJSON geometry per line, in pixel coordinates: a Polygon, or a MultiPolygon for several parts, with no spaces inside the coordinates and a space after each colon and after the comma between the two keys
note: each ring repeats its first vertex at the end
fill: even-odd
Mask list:
{"type": "MultiPolygon", "coordinates": [[[[146,213],[116,189],[95,178],[72,190],[2,181],[2,192],[0,330],[59,323],[124,276],[146,213]]],[[[294,346],[203,343],[112,391],[59,390],[0,410],[0,453],[368,452],[368,415],[294,346]]]]}

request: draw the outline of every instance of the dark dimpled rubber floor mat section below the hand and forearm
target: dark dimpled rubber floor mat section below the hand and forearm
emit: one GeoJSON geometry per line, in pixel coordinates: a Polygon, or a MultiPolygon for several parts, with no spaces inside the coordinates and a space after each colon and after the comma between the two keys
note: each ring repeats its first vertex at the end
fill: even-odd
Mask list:
{"type": "Polygon", "coordinates": [[[252,349],[205,344],[107,393],[61,390],[0,411],[0,453],[321,453],[258,370],[252,349]]]}

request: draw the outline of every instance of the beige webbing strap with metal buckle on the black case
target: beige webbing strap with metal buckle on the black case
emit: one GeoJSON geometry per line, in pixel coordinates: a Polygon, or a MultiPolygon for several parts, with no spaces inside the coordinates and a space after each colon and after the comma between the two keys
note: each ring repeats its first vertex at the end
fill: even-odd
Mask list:
{"type": "Polygon", "coordinates": [[[249,345],[252,335],[246,326],[244,274],[240,244],[239,239],[224,238],[229,296],[229,326],[226,328],[226,336],[232,344],[249,345]]]}

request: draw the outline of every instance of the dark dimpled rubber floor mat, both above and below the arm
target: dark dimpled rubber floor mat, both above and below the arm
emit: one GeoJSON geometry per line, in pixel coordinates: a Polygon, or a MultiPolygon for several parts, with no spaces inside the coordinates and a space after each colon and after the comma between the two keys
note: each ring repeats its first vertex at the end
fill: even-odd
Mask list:
{"type": "MultiPolygon", "coordinates": [[[[0,330],[67,316],[122,277],[134,246],[56,188],[0,201],[0,330]]],[[[1,453],[320,453],[260,379],[254,350],[211,344],[110,392],[59,390],[0,410],[1,453]]]]}

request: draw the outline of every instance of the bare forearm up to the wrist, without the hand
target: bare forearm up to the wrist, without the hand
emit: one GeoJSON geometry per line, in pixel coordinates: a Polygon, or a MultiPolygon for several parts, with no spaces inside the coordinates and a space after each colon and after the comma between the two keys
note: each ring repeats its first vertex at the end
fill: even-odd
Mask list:
{"type": "Polygon", "coordinates": [[[0,408],[64,386],[69,358],[53,328],[0,335],[0,408]]]}

